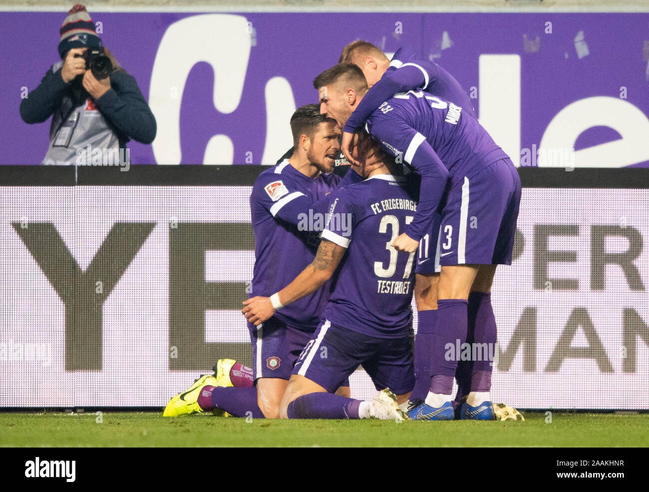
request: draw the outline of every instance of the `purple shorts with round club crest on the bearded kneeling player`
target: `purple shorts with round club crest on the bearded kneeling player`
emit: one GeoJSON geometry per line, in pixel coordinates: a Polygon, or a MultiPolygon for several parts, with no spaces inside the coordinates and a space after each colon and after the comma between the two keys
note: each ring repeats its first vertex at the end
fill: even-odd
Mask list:
{"type": "MultiPolygon", "coordinates": [[[[310,330],[299,330],[275,317],[260,326],[247,323],[252,343],[252,377],[288,380],[293,365],[312,338],[310,330]]],[[[339,386],[349,386],[349,380],[339,386]]],[[[336,387],[338,389],[338,387],[336,387]]],[[[336,391],[334,389],[334,391],[336,391]]]]}

